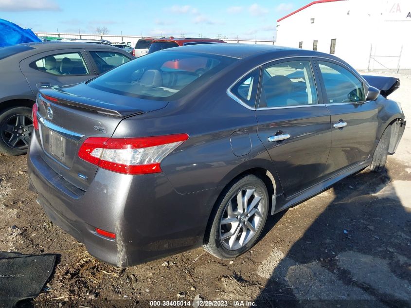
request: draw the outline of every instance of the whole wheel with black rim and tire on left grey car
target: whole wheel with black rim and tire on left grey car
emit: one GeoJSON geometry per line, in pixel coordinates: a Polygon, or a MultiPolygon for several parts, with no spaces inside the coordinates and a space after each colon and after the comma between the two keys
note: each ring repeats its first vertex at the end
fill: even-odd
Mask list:
{"type": "Polygon", "coordinates": [[[0,114],[0,151],[14,156],[26,154],[33,132],[32,109],[13,107],[0,114]]]}

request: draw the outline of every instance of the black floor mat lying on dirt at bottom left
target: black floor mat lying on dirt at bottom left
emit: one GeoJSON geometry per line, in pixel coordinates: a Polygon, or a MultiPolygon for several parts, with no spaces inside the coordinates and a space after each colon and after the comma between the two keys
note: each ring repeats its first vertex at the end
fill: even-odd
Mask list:
{"type": "Polygon", "coordinates": [[[0,252],[0,308],[36,297],[54,270],[55,254],[26,255],[0,252]]]}

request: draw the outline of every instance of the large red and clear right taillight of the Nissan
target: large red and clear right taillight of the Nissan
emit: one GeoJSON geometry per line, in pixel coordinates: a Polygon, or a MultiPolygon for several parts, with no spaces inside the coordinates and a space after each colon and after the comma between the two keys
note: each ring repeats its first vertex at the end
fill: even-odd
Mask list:
{"type": "Polygon", "coordinates": [[[142,138],[90,137],[78,156],[100,168],[125,173],[161,172],[161,160],[188,139],[187,134],[142,138]]]}

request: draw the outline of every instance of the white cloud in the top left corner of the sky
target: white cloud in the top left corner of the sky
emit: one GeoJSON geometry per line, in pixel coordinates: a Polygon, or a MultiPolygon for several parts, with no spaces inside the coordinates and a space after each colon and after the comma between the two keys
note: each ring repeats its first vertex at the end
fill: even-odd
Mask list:
{"type": "Polygon", "coordinates": [[[61,8],[55,0],[0,0],[0,11],[61,11],[61,8]]]}

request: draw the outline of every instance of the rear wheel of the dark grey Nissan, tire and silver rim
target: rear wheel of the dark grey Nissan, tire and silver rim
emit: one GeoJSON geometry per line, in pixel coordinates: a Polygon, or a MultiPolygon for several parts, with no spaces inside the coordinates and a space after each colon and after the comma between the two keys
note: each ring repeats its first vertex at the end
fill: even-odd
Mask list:
{"type": "Polygon", "coordinates": [[[220,259],[248,251],[257,241],[267,220],[267,187],[247,175],[227,187],[213,210],[204,236],[204,249],[220,259]]]}

